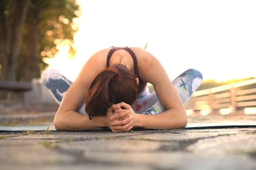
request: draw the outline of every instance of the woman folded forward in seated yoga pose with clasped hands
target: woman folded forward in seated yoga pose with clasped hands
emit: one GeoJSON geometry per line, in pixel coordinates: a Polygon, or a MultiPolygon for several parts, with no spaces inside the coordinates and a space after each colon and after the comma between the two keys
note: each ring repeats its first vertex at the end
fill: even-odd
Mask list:
{"type": "Polygon", "coordinates": [[[137,47],[110,47],[95,53],[74,83],[54,69],[41,77],[60,104],[55,128],[76,131],[185,127],[184,104],[202,82],[202,74],[194,69],[171,82],[157,58],[137,47]],[[148,82],[155,92],[149,93],[148,82]]]}

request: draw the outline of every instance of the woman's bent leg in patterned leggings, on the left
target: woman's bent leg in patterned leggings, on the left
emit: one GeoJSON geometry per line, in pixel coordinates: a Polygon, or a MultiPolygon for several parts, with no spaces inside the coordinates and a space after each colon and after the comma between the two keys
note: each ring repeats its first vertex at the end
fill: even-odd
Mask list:
{"type": "MultiPolygon", "coordinates": [[[[43,84],[48,88],[49,92],[52,94],[54,99],[58,104],[61,101],[67,91],[67,89],[72,84],[72,81],[67,77],[63,76],[54,68],[49,68],[43,72],[41,75],[43,84]]],[[[87,115],[85,113],[85,104],[83,104],[78,110],[78,113],[82,115],[87,115]]]]}

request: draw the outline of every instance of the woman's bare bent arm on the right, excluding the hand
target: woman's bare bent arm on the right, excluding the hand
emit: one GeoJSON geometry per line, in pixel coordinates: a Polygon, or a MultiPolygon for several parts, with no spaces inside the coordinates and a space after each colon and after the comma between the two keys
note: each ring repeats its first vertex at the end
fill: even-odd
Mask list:
{"type": "Polygon", "coordinates": [[[157,115],[133,114],[132,126],[153,129],[185,127],[187,115],[180,95],[159,60],[147,51],[145,53],[146,57],[142,57],[143,63],[138,62],[140,77],[144,82],[154,86],[157,97],[166,111],[157,115]]]}

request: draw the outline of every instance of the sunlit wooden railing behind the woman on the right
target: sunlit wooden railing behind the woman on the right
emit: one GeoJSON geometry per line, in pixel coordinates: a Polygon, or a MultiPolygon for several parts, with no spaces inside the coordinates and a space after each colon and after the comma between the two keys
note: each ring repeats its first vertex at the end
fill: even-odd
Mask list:
{"type": "Polygon", "coordinates": [[[256,114],[256,79],[195,91],[185,108],[188,115],[256,114]]]}

